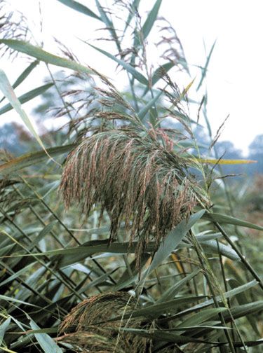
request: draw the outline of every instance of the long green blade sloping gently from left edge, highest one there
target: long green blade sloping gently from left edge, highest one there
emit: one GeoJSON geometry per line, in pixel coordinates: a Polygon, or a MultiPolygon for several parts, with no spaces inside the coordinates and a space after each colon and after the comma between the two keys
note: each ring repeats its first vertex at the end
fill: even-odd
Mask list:
{"type": "Polygon", "coordinates": [[[1,39],[0,43],[6,44],[6,46],[12,48],[13,50],[17,50],[20,53],[35,57],[38,60],[46,62],[47,64],[76,70],[82,72],[83,74],[95,74],[95,72],[92,69],[88,69],[88,67],[84,67],[83,65],[72,60],[65,59],[64,57],[50,54],[47,51],[37,48],[36,46],[32,46],[32,44],[25,41],[18,41],[16,39],[1,39]]]}

